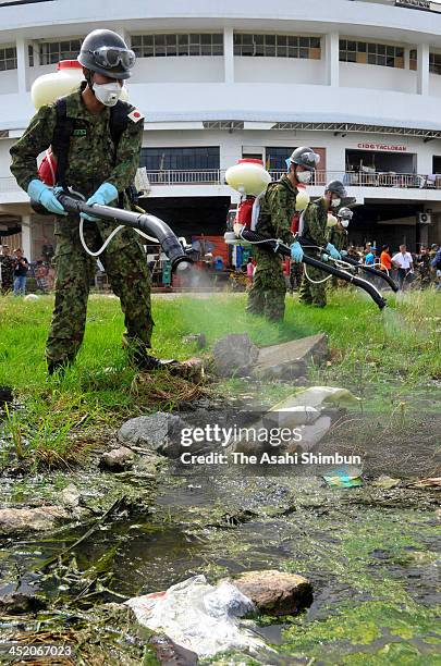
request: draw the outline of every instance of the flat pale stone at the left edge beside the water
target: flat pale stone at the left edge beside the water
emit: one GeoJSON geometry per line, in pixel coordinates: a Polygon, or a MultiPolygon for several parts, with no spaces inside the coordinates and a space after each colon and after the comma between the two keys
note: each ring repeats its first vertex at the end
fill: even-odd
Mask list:
{"type": "Polygon", "coordinates": [[[44,532],[75,517],[75,511],[63,506],[39,506],[35,508],[0,509],[0,534],[24,534],[44,532]]]}

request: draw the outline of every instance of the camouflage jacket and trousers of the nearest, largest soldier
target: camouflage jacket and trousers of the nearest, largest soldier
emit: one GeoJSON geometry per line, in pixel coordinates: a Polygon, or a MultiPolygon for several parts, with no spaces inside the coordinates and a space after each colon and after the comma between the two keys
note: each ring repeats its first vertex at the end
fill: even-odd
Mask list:
{"type": "MultiPolygon", "coordinates": [[[[139,164],[144,123],[127,120],[127,127],[114,155],[109,131],[110,108],[105,107],[97,114],[89,113],[81,88],[65,99],[66,115],[75,119],[66,183],[86,198],[103,182],[114,185],[119,193],[123,192],[132,183],[139,164]]],[[[52,140],[56,113],[54,104],[41,107],[22,138],[11,148],[11,171],[25,190],[29,182],[38,177],[36,157],[52,140]]],[[[124,207],[130,208],[128,200],[125,200],[124,207]]],[[[110,221],[85,221],[86,243],[97,250],[114,227],[115,223],[110,221]]],[[[81,244],[77,215],[57,217],[54,233],[57,282],[56,305],[46,348],[49,365],[72,360],[78,351],[96,267],[96,260],[85,252],[81,244]]],[[[100,260],[113,292],[121,299],[125,316],[124,338],[142,353],[150,346],[154,321],[150,313],[150,274],[137,238],[133,230],[123,230],[110,242],[100,260]]]]}

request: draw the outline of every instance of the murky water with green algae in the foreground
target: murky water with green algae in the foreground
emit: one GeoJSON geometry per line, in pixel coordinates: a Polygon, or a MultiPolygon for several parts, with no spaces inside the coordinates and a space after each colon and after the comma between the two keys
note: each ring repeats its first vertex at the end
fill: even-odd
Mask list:
{"type": "MultiPolygon", "coordinates": [[[[60,474],[57,483],[62,485],[60,474]]],[[[91,477],[78,483],[86,497],[93,486],[91,477]]],[[[38,494],[35,485],[34,491],[38,494]]],[[[314,603],[280,625],[262,621],[262,634],[285,661],[261,663],[314,657],[318,664],[436,664],[441,646],[436,506],[430,491],[369,484],[338,490],[319,478],[164,476],[147,511],[102,525],[64,559],[64,568],[42,570],[41,564],[87,526],[3,541],[0,593],[38,591],[58,613],[72,614],[199,572],[216,580],[278,568],[309,578],[314,603]],[[384,507],[388,501],[392,508],[384,507]],[[406,662],[407,654],[415,661],[406,662]]],[[[56,620],[46,615],[45,621],[56,620]]]]}

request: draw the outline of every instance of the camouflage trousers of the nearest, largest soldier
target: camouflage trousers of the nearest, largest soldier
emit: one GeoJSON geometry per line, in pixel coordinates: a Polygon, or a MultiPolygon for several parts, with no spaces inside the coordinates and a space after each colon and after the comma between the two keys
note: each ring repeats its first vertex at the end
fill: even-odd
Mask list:
{"type": "MultiPolygon", "coordinates": [[[[96,259],[79,240],[78,218],[57,219],[56,304],[46,345],[49,363],[73,360],[81,347],[86,323],[87,299],[96,273],[96,259]]],[[[109,237],[112,222],[84,223],[87,246],[97,251],[109,237]]],[[[124,342],[135,349],[150,346],[154,328],[150,309],[150,273],[145,252],[133,230],[121,231],[99,257],[124,313],[124,342]]]]}

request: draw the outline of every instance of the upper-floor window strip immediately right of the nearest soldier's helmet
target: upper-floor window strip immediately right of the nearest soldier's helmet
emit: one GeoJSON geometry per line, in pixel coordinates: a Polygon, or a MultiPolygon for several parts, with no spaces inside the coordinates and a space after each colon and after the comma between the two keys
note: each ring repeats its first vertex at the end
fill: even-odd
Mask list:
{"type": "Polygon", "coordinates": [[[222,33],[133,35],[131,42],[137,58],[223,55],[222,33]]]}

